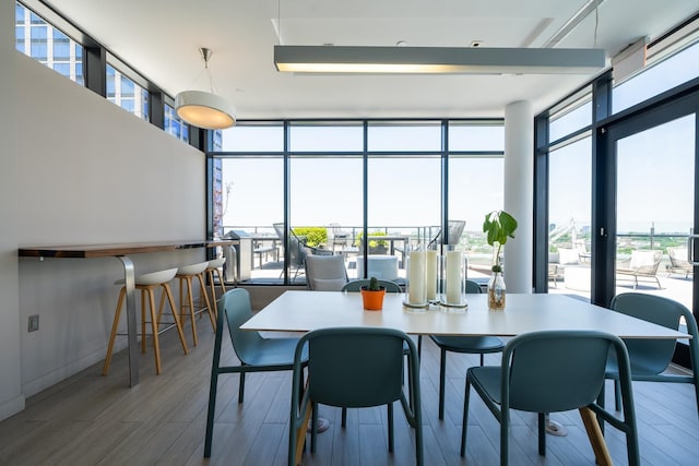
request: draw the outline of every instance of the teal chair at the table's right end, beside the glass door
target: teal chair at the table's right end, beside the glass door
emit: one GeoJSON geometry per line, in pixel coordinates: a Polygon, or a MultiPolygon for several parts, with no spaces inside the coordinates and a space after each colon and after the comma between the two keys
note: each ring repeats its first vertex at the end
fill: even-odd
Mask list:
{"type": "MultiPolygon", "coordinates": [[[[664,373],[673,360],[674,339],[625,339],[631,359],[631,379],[643,382],[691,383],[695,385],[697,409],[699,413],[699,332],[697,321],[685,306],[672,299],[642,292],[625,292],[612,299],[612,309],[637,319],[653,322],[668,328],[679,330],[684,318],[687,324],[689,339],[689,358],[691,374],[664,373]]],[[[611,357],[607,362],[606,378],[613,379],[616,408],[619,409],[618,368],[616,360],[611,357]]],[[[601,399],[604,403],[604,398],[601,399]]]]}

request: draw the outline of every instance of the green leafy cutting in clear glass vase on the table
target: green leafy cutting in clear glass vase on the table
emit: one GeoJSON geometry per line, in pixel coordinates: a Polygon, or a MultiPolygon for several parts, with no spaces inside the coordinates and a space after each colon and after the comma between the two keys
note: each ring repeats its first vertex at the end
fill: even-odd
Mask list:
{"type": "Polygon", "coordinates": [[[483,223],[483,232],[487,234],[486,240],[488,244],[495,246],[495,259],[493,267],[493,276],[488,282],[488,307],[490,309],[505,309],[505,279],[502,278],[502,262],[500,253],[508,238],[514,238],[517,230],[517,220],[512,215],[505,211],[493,211],[486,214],[483,223]]]}

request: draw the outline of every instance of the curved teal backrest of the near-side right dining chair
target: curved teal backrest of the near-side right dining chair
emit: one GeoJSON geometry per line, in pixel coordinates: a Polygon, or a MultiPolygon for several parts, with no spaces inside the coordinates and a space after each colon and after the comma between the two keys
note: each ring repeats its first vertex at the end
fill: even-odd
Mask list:
{"type": "Polygon", "coordinates": [[[602,332],[546,331],[512,338],[502,351],[502,397],[530,413],[557,413],[595,402],[604,386],[611,348],[621,363],[628,354],[616,336],[602,332]]]}

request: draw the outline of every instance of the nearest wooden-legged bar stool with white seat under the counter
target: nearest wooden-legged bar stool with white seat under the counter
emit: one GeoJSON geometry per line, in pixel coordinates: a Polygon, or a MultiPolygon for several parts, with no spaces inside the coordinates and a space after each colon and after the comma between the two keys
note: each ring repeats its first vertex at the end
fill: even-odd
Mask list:
{"type": "MultiPolygon", "coordinates": [[[[177,268],[168,268],[165,271],[153,272],[150,274],[143,274],[135,277],[135,289],[141,290],[141,351],[145,353],[145,339],[146,339],[146,324],[147,319],[145,314],[146,308],[146,297],[147,304],[150,304],[151,309],[151,332],[153,338],[153,353],[155,354],[155,371],[156,373],[161,373],[161,345],[158,343],[158,333],[159,333],[159,323],[161,318],[163,315],[163,309],[165,306],[165,298],[170,306],[170,312],[173,313],[173,319],[175,320],[175,327],[177,328],[177,333],[179,334],[179,340],[182,344],[182,350],[185,354],[188,354],[187,342],[185,339],[185,334],[182,333],[182,326],[179,321],[179,315],[175,308],[175,300],[173,299],[173,291],[170,289],[169,282],[175,278],[175,274],[177,273],[177,268]],[[162,287],[163,291],[161,292],[161,304],[158,307],[157,315],[155,314],[155,295],[153,290],[157,287],[162,287]]],[[[117,280],[115,285],[123,285],[123,280],[117,280]]],[[[109,365],[111,363],[111,351],[114,349],[114,340],[117,336],[117,330],[119,327],[119,318],[121,316],[121,304],[123,304],[123,300],[127,294],[126,286],[121,287],[119,291],[119,300],[117,301],[117,309],[114,313],[114,322],[111,324],[111,333],[109,335],[109,344],[107,345],[107,357],[105,358],[105,365],[102,369],[102,374],[107,375],[109,373],[109,365]]]]}

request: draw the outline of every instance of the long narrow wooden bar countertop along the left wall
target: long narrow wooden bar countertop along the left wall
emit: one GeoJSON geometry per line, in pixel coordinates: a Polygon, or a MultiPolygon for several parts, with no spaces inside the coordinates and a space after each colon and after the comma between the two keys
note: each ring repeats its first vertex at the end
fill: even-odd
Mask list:
{"type": "Polygon", "coordinates": [[[17,253],[21,258],[106,258],[110,255],[140,254],[144,252],[175,251],[178,249],[213,248],[215,246],[237,243],[238,240],[199,239],[114,244],[39,246],[20,248],[17,253]]]}

